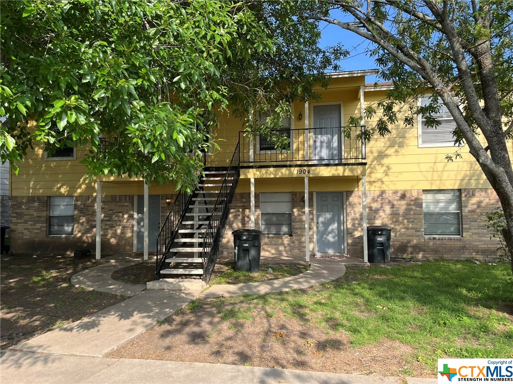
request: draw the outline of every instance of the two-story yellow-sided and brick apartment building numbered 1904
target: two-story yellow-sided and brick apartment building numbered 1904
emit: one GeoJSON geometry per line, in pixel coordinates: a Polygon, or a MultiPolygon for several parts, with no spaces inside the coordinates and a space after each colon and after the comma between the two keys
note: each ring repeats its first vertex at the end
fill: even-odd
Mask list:
{"type": "Polygon", "coordinates": [[[189,221],[182,236],[178,224],[166,229],[169,236],[161,233],[161,238],[183,238],[174,239],[172,249],[156,239],[172,220],[166,221],[169,211],[176,211],[173,185],[148,187],[142,180],[114,177],[90,181],[80,163],[86,148],[48,157],[43,146],[36,147],[19,174],[11,175],[11,250],[91,248],[100,257],[137,251],[147,256],[167,247],[157,253],[174,249],[176,257],[190,247],[191,257],[203,257],[210,246],[202,243],[207,230],[200,228],[211,225],[209,215],[216,217],[216,204],[225,199],[230,200],[227,217],[216,220],[226,220],[226,228],[215,246],[223,260],[233,259],[232,230],[256,228],[263,232],[266,261],[348,255],[366,262],[367,225],[393,228],[392,257],[496,257],[497,241],[490,240],[484,214],[499,201],[465,148],[462,159],[445,160],[455,151],[449,115],[440,112],[442,125],[436,130],[425,127],[420,116],[417,126],[399,122],[391,135],[375,135],[367,144],[354,139],[363,127],[347,126],[349,117],[363,118],[364,108],[383,99],[389,87],[366,84],[374,73],[333,73],[320,100],[293,103],[292,116],[280,127],[290,138],[288,151],[245,135],[242,121],[220,116],[212,132],[219,150],[206,156],[212,176],[189,201],[195,208],[184,211],[182,221],[189,221]],[[228,166],[236,179],[234,194],[226,190],[219,198],[212,190],[223,194],[228,166]]]}

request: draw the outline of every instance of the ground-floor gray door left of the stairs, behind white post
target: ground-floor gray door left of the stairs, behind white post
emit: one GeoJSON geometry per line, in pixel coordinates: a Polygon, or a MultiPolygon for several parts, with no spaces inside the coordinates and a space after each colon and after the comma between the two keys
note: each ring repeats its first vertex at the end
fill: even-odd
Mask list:
{"type": "MultiPolygon", "coordinates": [[[[160,195],[148,196],[148,249],[156,250],[157,237],[160,232],[160,195]]],[[[137,225],[137,251],[144,251],[144,196],[137,196],[137,212],[135,215],[137,225]]]]}

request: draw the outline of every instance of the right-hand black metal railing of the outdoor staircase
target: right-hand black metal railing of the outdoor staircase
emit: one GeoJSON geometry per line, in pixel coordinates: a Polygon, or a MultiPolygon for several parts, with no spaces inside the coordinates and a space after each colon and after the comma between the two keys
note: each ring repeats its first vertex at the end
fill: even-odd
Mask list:
{"type": "Polygon", "coordinates": [[[228,166],[226,176],[221,186],[218,198],[212,208],[212,215],[207,224],[204,237],[204,246],[201,252],[203,258],[203,281],[208,284],[215,261],[219,254],[219,246],[223,238],[223,230],[228,219],[230,204],[235,195],[235,189],[240,177],[240,142],[235,146],[235,151],[228,166]]]}

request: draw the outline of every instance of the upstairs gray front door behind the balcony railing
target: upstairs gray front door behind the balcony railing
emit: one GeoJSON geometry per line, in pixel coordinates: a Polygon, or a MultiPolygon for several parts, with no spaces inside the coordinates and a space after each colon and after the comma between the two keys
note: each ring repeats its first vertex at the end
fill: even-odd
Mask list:
{"type": "Polygon", "coordinates": [[[313,160],[340,159],[340,104],[314,105],[313,128],[313,160]]]}

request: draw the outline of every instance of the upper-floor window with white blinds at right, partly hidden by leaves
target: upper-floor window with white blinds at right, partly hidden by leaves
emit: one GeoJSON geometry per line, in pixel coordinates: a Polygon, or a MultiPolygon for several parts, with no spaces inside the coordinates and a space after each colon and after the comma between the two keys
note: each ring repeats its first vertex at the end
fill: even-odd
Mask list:
{"type": "MultiPolygon", "coordinates": [[[[431,95],[424,95],[420,99],[420,105],[428,105],[430,101],[431,95]]],[[[440,98],[438,102],[440,103],[438,113],[429,115],[430,118],[440,121],[440,125],[436,129],[426,126],[424,115],[418,117],[419,146],[455,146],[452,131],[456,129],[456,123],[440,98]]]]}

